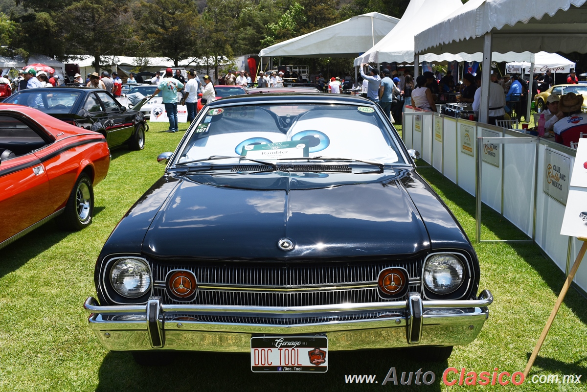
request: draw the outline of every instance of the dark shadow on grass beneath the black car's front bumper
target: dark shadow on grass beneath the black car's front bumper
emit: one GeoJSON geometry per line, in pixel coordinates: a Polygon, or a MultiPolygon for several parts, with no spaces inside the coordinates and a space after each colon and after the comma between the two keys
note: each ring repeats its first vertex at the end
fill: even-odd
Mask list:
{"type": "MultiPolygon", "coordinates": [[[[110,352],[104,358],[96,391],[370,391],[381,390],[391,367],[396,367],[397,387],[406,391],[440,391],[447,361],[425,363],[413,361],[406,350],[360,350],[330,352],[328,372],[252,373],[248,353],[178,352],[173,363],[166,366],[141,367],[130,353],[110,352]],[[402,372],[434,373],[431,385],[402,385],[402,372]],[[345,375],[375,375],[376,383],[351,384],[345,375]]],[[[428,375],[427,377],[431,377],[428,375]]],[[[430,378],[427,378],[430,381],[430,378]]],[[[395,387],[387,381],[384,387],[395,387]]],[[[396,388],[397,388],[396,387],[396,388]]]]}

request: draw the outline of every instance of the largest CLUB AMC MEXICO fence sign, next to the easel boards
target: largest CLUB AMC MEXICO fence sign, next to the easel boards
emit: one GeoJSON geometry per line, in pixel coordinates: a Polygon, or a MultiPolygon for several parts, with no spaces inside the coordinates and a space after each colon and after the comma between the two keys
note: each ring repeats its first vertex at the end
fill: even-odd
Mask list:
{"type": "Polygon", "coordinates": [[[569,195],[571,159],[546,148],[544,156],[544,193],[566,205],[569,195]]]}

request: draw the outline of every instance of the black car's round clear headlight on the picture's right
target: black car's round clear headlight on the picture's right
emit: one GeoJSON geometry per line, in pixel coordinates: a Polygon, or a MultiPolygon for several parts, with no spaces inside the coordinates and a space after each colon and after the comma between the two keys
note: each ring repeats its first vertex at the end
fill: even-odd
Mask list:
{"type": "Polygon", "coordinates": [[[458,289],[464,280],[463,262],[450,254],[430,256],[424,264],[424,285],[437,294],[448,294],[458,289]]]}

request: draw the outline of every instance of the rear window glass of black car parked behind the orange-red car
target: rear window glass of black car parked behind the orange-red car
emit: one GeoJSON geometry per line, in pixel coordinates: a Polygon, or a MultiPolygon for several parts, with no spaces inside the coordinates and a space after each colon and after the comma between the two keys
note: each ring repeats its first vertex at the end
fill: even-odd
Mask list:
{"type": "Polygon", "coordinates": [[[71,113],[81,96],[82,93],[78,91],[30,89],[6,98],[4,103],[30,106],[49,114],[71,113]]]}

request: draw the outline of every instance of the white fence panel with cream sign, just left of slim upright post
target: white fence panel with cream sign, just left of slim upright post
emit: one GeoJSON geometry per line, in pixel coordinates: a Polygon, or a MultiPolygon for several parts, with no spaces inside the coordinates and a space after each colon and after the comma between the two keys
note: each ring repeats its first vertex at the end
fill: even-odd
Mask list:
{"type": "Polygon", "coordinates": [[[457,185],[475,195],[477,123],[457,120],[457,185]]]}

